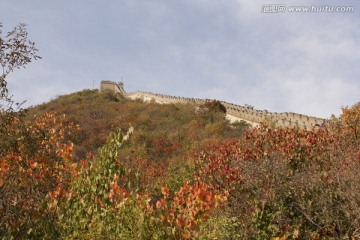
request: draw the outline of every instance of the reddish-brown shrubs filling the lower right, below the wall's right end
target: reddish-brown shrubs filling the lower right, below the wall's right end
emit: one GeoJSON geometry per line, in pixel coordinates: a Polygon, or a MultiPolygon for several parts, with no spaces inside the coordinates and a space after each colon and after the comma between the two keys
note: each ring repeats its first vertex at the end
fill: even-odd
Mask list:
{"type": "Polygon", "coordinates": [[[345,132],[271,129],[210,146],[199,178],[229,190],[228,211],[244,239],[344,239],[360,228],[359,142],[345,132]]]}

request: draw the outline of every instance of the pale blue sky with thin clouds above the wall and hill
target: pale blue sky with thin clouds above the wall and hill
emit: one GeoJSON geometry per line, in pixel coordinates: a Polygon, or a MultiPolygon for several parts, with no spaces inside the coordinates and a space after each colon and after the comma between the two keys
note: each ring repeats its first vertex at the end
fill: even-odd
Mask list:
{"type": "Polygon", "coordinates": [[[360,100],[356,0],[2,0],[0,21],[5,32],[26,23],[43,57],[7,79],[28,106],[103,79],[325,118],[360,100]],[[355,10],[264,13],[267,4],[355,10]]]}

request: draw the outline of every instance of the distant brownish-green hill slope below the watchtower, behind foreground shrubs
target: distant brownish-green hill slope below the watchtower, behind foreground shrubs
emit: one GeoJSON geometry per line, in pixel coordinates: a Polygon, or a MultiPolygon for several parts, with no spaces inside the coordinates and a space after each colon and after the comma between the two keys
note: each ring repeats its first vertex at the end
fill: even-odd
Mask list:
{"type": "Polygon", "coordinates": [[[187,161],[188,154],[204,142],[241,138],[249,126],[230,123],[223,110],[210,102],[164,105],[127,99],[112,91],[83,90],[60,96],[30,109],[29,116],[49,111],[65,114],[67,121],[80,126],[70,138],[77,161],[89,152],[96,155],[111,131],[126,130],[131,124],[133,136],[121,151],[124,161],[146,159],[150,165],[162,162],[166,168],[187,161]]]}

